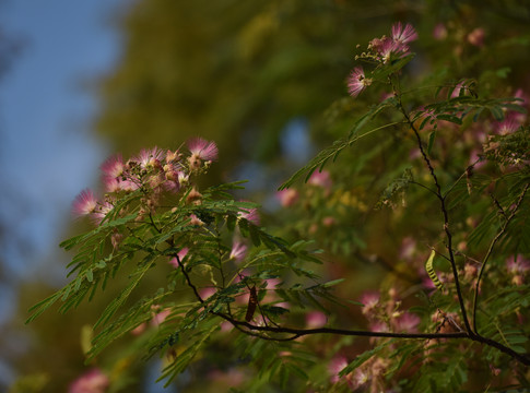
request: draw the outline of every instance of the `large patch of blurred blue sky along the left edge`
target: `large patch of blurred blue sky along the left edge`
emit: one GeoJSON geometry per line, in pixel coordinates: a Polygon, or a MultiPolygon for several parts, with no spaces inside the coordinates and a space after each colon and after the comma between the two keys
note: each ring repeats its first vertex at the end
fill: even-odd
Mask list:
{"type": "Polygon", "coordinates": [[[0,26],[22,43],[0,82],[0,217],[9,223],[0,252],[9,276],[33,273],[57,248],[70,202],[97,176],[106,153],[91,132],[87,86],[119,57],[109,21],[126,3],[0,2],[0,26]]]}

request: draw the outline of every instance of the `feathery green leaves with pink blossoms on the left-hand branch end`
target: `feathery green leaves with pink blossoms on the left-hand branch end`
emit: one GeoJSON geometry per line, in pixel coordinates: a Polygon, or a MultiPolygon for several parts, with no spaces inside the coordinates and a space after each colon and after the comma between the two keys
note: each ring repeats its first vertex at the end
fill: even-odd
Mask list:
{"type": "MultiPolygon", "coordinates": [[[[275,325],[288,312],[276,306],[282,299],[293,307],[320,309],[325,307],[319,299],[337,301],[329,291],[337,282],[319,284],[319,276],[308,269],[321,262],[307,242],[290,245],[269,234],[259,226],[258,205],[234,200],[231,191],[239,189],[240,182],[199,192],[196,178],[210,162],[192,152],[189,157],[167,152],[165,166],[158,163],[164,159],[162,153],[151,158],[155,159],[151,165],[142,166],[136,158],[123,164],[114,180],[131,181],[134,189],[109,190],[105,202],[87,212],[97,226],[61,243],[76,251],[68,265],[73,278],[35,305],[27,322],[56,302],[66,312],[91,300],[98,289],[119,285],[118,295],[94,324],[87,361],[116,340],[155,323],[158,327],[149,332],[139,350],[149,356],[174,354],[161,377],[169,383],[219,334],[223,322],[237,329],[242,329],[238,323],[258,321],[275,325]],[[179,174],[168,175],[175,167],[179,174]],[[178,177],[178,184],[169,183],[178,177]],[[167,272],[166,282],[156,290],[142,289],[139,298],[137,289],[144,288],[151,272],[161,269],[167,272]],[[249,312],[249,302],[243,299],[252,294],[249,312]]],[[[262,372],[280,372],[285,384],[290,372],[305,377],[298,362],[291,355],[280,364],[266,365],[262,372]]]]}

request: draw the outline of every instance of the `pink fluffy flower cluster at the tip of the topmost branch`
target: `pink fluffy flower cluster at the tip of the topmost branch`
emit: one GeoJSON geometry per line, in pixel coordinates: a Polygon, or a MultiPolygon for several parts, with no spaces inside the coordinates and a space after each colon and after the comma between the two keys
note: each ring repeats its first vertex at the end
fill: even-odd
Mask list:
{"type": "MultiPolygon", "coordinates": [[[[409,43],[417,39],[417,33],[411,24],[402,25],[401,22],[392,26],[390,37],[382,36],[374,38],[368,44],[367,51],[355,59],[365,59],[377,64],[387,64],[394,59],[400,59],[410,53],[409,43]]],[[[348,78],[348,92],[352,97],[356,97],[373,83],[372,78],[367,78],[362,67],[356,67],[348,78]]]]}

